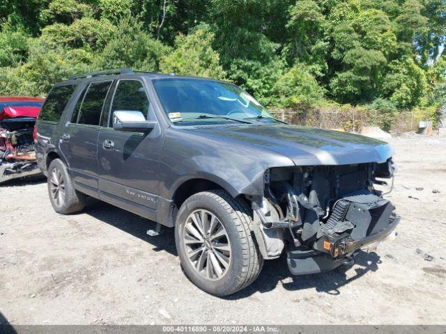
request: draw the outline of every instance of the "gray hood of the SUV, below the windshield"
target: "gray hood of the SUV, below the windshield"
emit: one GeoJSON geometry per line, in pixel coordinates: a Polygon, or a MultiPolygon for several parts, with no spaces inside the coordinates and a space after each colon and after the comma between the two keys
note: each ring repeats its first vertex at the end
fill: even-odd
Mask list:
{"type": "Polygon", "coordinates": [[[296,125],[210,125],[192,129],[196,134],[233,145],[232,150],[269,150],[289,157],[295,165],[344,165],[385,162],[390,145],[373,138],[296,125]]]}

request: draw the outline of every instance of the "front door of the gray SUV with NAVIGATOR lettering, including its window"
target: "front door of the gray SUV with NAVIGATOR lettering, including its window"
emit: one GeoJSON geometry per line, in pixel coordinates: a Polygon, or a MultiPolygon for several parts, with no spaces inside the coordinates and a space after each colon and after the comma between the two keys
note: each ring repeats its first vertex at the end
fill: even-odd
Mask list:
{"type": "MultiPolygon", "coordinates": [[[[141,111],[146,119],[156,120],[144,82],[120,79],[110,103],[108,120],[98,138],[100,198],[125,208],[128,204],[143,211],[148,209],[154,214],[162,149],[160,127],[149,134],[118,132],[113,129],[112,116],[119,110],[141,111]]],[[[144,216],[151,217],[151,214],[144,216]]]]}

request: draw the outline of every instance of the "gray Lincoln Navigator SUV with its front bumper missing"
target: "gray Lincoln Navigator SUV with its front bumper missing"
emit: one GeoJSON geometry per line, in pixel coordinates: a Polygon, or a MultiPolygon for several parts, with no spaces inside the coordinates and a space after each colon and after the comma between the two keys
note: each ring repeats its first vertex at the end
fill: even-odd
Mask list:
{"type": "Polygon", "coordinates": [[[37,132],[56,212],[91,196],[155,221],[153,236],[175,228],[186,275],[217,296],[282,254],[293,275],[351,265],[399,222],[378,190],[394,176],[387,143],[289,125],[223,81],[70,77],[49,92],[37,132]]]}

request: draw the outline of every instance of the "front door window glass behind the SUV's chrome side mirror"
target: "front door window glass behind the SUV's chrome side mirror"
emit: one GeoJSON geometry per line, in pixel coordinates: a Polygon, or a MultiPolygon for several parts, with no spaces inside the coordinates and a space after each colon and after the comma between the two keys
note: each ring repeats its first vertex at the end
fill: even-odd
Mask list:
{"type": "Polygon", "coordinates": [[[109,127],[113,127],[113,113],[117,110],[141,111],[147,119],[148,104],[146,90],[141,81],[120,80],[114,93],[109,127]]]}

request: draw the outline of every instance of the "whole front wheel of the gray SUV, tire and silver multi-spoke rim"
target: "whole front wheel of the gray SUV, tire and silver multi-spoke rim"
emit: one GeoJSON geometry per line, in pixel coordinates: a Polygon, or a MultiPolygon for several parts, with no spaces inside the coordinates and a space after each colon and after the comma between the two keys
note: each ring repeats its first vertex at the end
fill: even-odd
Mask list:
{"type": "Polygon", "coordinates": [[[203,191],[185,200],[176,218],[175,242],[181,266],[194,285],[227,296],[254,282],[263,257],[249,229],[251,221],[246,203],[226,191],[203,191]],[[208,231],[206,237],[203,230],[208,231]]]}

